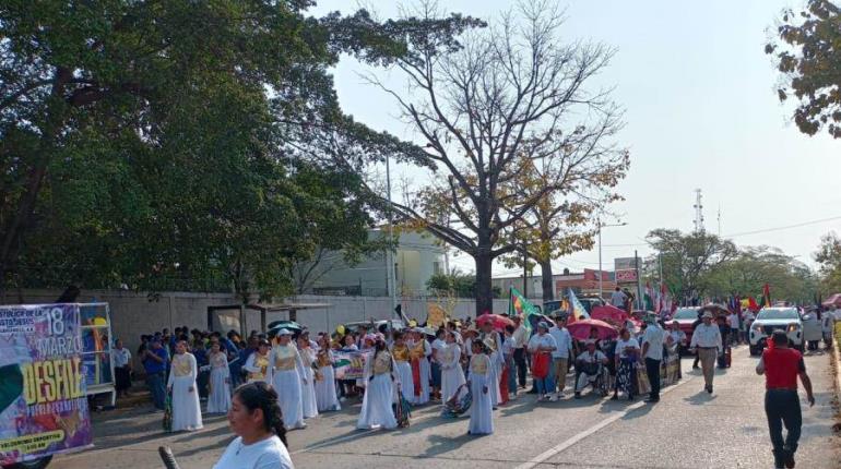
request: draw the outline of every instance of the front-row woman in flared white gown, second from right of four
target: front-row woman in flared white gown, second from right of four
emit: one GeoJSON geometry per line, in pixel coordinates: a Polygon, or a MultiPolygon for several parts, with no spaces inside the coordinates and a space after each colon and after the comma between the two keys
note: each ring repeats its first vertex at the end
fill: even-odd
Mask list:
{"type": "Polygon", "coordinates": [[[370,360],[365,361],[366,389],[356,428],[360,430],[395,429],[398,420],[394,418],[391,405],[395,399],[394,383],[400,386],[400,376],[395,372],[394,360],[386,347],[384,339],[377,337],[374,347],[375,351],[370,360]]]}

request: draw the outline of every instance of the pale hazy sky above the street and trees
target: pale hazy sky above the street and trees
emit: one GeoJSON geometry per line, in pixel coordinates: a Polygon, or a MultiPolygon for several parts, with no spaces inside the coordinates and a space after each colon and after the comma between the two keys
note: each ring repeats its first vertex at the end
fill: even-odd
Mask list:
{"type": "MultiPolygon", "coordinates": [[[[494,21],[517,5],[509,0],[450,0],[453,12],[494,21]]],[[[706,229],[739,246],[771,245],[815,266],[820,237],[841,231],[841,191],[832,175],[841,170],[841,141],[802,134],[791,105],[777,98],[781,77],[763,46],[773,37],[784,8],[801,0],[708,0],[704,2],[572,0],[561,28],[565,41],[589,40],[616,48],[594,85],[615,87],[625,109],[617,142],[630,149],[631,167],[618,192],[626,201],[611,211],[626,226],[604,228],[604,268],[614,257],[651,254],[645,234],[655,228],[690,231],[695,190],[701,189],[706,229]],[[719,224],[719,213],[721,214],[719,224]],[[827,220],[828,218],[834,218],[827,220]],[[822,221],[818,221],[822,220],[822,221]],[[783,227],[793,228],[779,229],[783,227]],[[760,232],[756,232],[760,231],[760,232]]],[[[366,8],[393,17],[395,2],[366,8]]],[[[351,13],[358,4],[322,0],[312,10],[351,13]]],[[[406,140],[417,140],[398,119],[393,98],[368,85],[359,73],[372,69],[343,58],[333,70],[342,108],[357,121],[406,140]]],[[[375,70],[400,87],[398,73],[375,70]]],[[[392,167],[392,181],[417,181],[416,169],[392,167]]],[[[399,197],[398,189],[392,194],[399,197]]],[[[466,255],[451,266],[473,270],[466,255]]],[[[597,268],[597,250],[554,263],[580,272],[597,268]]],[[[494,276],[519,270],[495,265],[494,276]]]]}

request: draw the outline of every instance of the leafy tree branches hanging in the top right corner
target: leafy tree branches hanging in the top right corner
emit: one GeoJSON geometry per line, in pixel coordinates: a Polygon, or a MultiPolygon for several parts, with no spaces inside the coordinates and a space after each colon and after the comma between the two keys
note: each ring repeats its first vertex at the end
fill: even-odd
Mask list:
{"type": "Polygon", "coordinates": [[[803,11],[787,9],[766,45],[784,86],[781,101],[794,99],[794,122],[815,135],[821,128],[841,137],[841,10],[830,0],[808,0],[803,11]]]}

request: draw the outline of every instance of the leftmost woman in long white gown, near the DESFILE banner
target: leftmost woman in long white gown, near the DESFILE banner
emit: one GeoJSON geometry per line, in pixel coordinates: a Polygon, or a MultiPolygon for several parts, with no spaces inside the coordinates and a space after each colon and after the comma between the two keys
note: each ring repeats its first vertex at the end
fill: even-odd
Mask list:
{"type": "Polygon", "coordinates": [[[187,342],[179,340],[173,357],[167,390],[173,394],[173,431],[193,431],[201,429],[201,405],[196,387],[199,373],[196,357],[187,352],[187,342]]]}

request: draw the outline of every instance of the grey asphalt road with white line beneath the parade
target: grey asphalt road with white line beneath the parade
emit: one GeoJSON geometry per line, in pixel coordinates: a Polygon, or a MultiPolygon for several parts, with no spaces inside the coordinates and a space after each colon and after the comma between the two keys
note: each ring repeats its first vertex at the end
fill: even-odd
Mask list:
{"type": "MultiPolygon", "coordinates": [[[[442,419],[438,405],[416,409],[412,424],[395,431],[354,429],[358,402],[308,421],[288,434],[297,468],[770,468],[762,408],[763,381],[747,348],[734,350],[733,368],[719,371],[715,393],[702,390],[698,371],[664,388],[660,404],[611,401],[571,394],[536,404],[521,395],[494,414],[490,436],[466,434],[467,421],[442,419]]],[[[806,357],[817,404],[804,404],[797,467],[841,468],[841,437],[833,436],[830,357],[806,357]]],[[[803,397],[802,393],[802,397],[803,397]]],[[[225,419],[205,419],[197,433],[165,435],[161,414],[146,409],[95,417],[96,448],[57,457],[51,469],[163,468],[159,445],[171,446],[183,469],[210,468],[232,440],[225,419]]]]}

